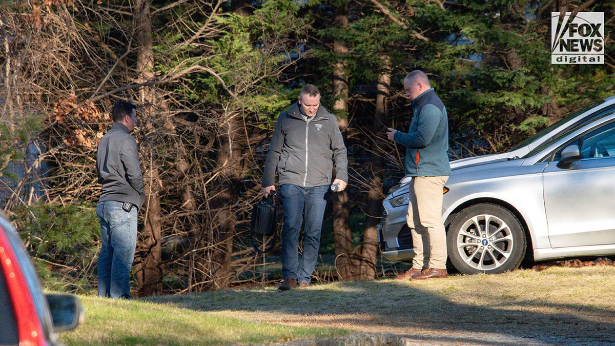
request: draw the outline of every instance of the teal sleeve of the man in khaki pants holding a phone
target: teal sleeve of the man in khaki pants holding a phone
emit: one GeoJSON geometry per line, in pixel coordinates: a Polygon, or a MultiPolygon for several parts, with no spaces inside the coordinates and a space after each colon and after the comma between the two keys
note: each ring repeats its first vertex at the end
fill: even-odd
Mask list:
{"type": "Polygon", "coordinates": [[[424,148],[431,143],[438,124],[440,124],[442,111],[434,105],[425,105],[417,116],[416,131],[410,133],[395,132],[395,142],[408,148],[424,148]]]}

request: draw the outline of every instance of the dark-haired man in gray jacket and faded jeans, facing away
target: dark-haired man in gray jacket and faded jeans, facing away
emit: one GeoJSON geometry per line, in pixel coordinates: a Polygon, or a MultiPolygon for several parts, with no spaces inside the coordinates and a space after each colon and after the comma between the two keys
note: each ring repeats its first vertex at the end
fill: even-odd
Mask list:
{"type": "Polygon", "coordinates": [[[98,296],[130,298],[130,268],[137,245],[137,212],[145,191],[137,141],[130,135],[137,124],[137,107],[120,101],[113,105],[113,125],[96,153],[98,182],[103,190],[96,206],[100,221],[98,296]]]}

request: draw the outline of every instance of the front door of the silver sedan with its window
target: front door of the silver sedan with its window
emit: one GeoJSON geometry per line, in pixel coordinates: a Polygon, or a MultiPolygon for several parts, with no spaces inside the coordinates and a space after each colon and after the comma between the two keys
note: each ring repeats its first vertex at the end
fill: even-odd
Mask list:
{"type": "Polygon", "coordinates": [[[560,147],[543,173],[551,247],[615,244],[615,123],[591,129],[560,147]],[[557,167],[563,147],[581,159],[557,167]]]}

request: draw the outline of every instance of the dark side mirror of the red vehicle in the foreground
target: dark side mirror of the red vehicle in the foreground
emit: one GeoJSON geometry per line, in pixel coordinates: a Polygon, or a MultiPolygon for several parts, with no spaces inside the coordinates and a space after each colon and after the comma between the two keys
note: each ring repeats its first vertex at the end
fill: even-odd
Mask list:
{"type": "Polygon", "coordinates": [[[79,298],[69,294],[46,294],[45,297],[54,322],[54,332],[71,331],[83,321],[83,306],[79,298]]]}

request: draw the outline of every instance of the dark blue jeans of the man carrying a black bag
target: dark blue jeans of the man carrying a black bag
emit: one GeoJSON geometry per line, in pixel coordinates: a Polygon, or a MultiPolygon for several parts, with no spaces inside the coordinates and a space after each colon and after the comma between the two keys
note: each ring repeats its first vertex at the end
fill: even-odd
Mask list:
{"type": "Polygon", "coordinates": [[[282,227],[282,275],[299,283],[309,283],[318,260],[322,217],[327,207],[329,186],[280,188],[284,208],[282,227]],[[303,254],[299,260],[299,235],[304,223],[303,254]]]}

